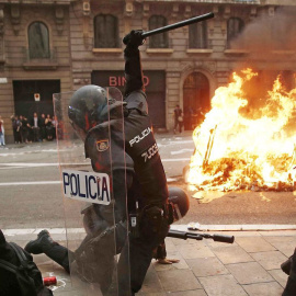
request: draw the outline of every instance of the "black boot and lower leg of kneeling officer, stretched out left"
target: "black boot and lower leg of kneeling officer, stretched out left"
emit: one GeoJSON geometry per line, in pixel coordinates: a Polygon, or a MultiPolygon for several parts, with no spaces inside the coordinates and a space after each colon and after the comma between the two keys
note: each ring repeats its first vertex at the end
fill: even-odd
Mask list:
{"type": "Polygon", "coordinates": [[[31,240],[24,249],[33,254],[45,253],[68,273],[70,272],[68,249],[54,241],[47,230],[42,230],[38,234],[37,239],[31,240]]]}

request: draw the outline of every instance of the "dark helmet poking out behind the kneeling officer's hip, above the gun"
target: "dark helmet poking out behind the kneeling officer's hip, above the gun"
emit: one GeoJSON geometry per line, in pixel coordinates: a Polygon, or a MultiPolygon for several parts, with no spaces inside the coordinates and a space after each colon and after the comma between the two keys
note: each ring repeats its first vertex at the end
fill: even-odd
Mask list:
{"type": "Polygon", "coordinates": [[[189,212],[189,196],[182,189],[169,187],[169,202],[173,205],[174,221],[180,220],[189,212]]]}

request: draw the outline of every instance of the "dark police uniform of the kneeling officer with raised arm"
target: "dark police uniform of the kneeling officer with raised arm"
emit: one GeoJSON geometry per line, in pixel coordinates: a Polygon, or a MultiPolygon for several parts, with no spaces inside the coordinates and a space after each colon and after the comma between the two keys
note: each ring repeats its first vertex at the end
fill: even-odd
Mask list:
{"type": "MultiPolygon", "coordinates": [[[[94,219],[87,221],[90,232],[73,253],[57,243],[52,243],[46,251],[66,270],[69,269],[66,259],[69,253],[73,262],[71,273],[76,270],[89,282],[99,282],[104,293],[111,284],[116,249],[121,253],[117,265],[121,296],[134,295],[141,288],[153,250],[169,230],[167,179],[148,116],[138,48],[127,45],[125,60],[124,118],[121,115],[123,105],[112,103],[107,114],[111,119],[107,116],[91,129],[84,128],[88,130],[86,157],[91,159],[95,172],[111,175],[115,204],[92,205],[94,219]],[[137,216],[138,225],[138,231],[132,231],[128,240],[125,236],[126,196],[128,213],[137,216]],[[127,266],[130,266],[130,281],[127,266]]],[[[80,114],[79,105],[71,106],[71,111],[75,122],[80,114]]],[[[80,118],[83,121],[83,113],[80,118]]],[[[89,214],[84,216],[90,217],[89,214]]],[[[34,247],[34,242],[31,244],[34,247]]]]}

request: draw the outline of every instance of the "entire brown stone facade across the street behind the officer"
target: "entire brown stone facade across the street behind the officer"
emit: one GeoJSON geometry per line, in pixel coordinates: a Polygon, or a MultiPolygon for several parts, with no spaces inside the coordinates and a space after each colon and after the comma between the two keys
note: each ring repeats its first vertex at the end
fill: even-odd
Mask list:
{"type": "Polygon", "coordinates": [[[0,0],[0,114],[53,114],[52,96],[84,84],[124,88],[122,37],[195,15],[215,18],[147,38],[141,61],[156,130],[171,130],[173,109],[210,107],[234,70],[262,72],[259,88],[282,73],[295,88],[294,0],[0,0]]]}

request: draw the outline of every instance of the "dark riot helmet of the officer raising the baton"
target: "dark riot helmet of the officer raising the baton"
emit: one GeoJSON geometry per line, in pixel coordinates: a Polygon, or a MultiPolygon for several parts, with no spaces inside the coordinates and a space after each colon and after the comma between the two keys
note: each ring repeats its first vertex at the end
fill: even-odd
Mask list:
{"type": "Polygon", "coordinates": [[[89,84],[78,89],[69,102],[68,116],[78,133],[84,139],[95,125],[109,119],[110,105],[122,105],[113,99],[106,89],[89,84]]]}

